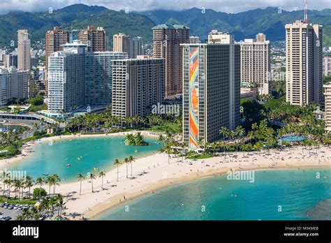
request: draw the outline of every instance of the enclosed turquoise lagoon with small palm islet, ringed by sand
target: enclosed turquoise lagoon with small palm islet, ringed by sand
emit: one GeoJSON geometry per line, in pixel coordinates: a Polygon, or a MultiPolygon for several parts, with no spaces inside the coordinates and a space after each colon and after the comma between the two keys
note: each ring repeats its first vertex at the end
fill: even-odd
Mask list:
{"type": "Polygon", "coordinates": [[[72,140],[54,140],[37,142],[34,153],[23,161],[10,165],[7,170],[26,170],[27,175],[36,179],[43,173],[57,174],[61,181],[72,180],[78,173],[108,170],[115,159],[122,160],[128,156],[135,158],[157,152],[162,145],[154,138],[145,138],[149,146],[126,146],[124,136],[73,138],[72,140]],[[78,159],[80,158],[80,159],[78,159]],[[67,164],[71,164],[67,167],[67,164]]]}

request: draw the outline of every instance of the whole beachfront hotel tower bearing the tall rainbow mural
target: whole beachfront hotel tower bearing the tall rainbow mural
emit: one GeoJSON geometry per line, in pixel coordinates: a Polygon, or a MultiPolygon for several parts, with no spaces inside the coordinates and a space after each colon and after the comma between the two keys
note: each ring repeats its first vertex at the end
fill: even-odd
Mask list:
{"type": "Polygon", "coordinates": [[[183,136],[189,148],[221,138],[240,122],[240,45],[212,31],[207,44],[183,44],[183,136]]]}

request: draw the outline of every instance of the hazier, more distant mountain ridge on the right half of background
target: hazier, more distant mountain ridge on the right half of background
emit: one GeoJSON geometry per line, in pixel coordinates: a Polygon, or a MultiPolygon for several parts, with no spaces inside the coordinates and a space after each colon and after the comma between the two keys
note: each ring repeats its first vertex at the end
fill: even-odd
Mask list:
{"type": "MultiPolygon", "coordinates": [[[[142,12],[153,22],[166,24],[186,24],[191,28],[191,35],[205,39],[211,29],[235,34],[236,40],[254,38],[259,32],[267,35],[269,40],[285,40],[285,24],[295,22],[304,17],[303,10],[286,11],[279,8],[248,10],[242,13],[228,14],[199,8],[189,10],[151,10],[142,12]],[[208,27],[208,28],[206,28],[208,27]]],[[[331,9],[309,10],[309,22],[322,24],[324,45],[331,45],[331,9]]]]}

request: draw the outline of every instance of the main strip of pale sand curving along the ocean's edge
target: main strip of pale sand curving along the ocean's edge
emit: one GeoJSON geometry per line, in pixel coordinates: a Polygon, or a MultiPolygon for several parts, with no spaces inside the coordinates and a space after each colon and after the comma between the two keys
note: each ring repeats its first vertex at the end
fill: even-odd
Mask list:
{"type": "MultiPolygon", "coordinates": [[[[327,149],[323,147],[321,150],[327,149]]],[[[297,151],[292,151],[297,152],[297,151]]],[[[274,153],[272,151],[272,153],[274,153]]],[[[237,153],[238,154],[238,153],[237,153]]],[[[242,156],[242,154],[240,154],[242,156]]],[[[255,156],[258,156],[257,154],[254,154],[255,156]]],[[[265,154],[260,154],[261,157],[265,156],[265,154]]],[[[331,156],[331,154],[330,154],[331,156]]],[[[228,157],[228,156],[226,156],[228,157]]],[[[272,156],[270,156],[272,157],[272,156]]],[[[171,163],[168,165],[168,156],[165,156],[165,154],[156,154],[154,156],[149,156],[144,159],[138,160],[139,163],[146,163],[146,159],[149,159],[150,164],[151,161],[159,161],[154,162],[154,165],[157,163],[159,166],[156,168],[150,168],[150,172],[148,172],[146,175],[142,175],[141,177],[144,177],[145,180],[140,180],[138,184],[135,184],[133,181],[135,179],[126,179],[125,174],[124,177],[120,177],[119,182],[108,182],[107,184],[104,184],[104,190],[96,191],[94,193],[91,193],[91,189],[86,189],[86,186],[89,184],[84,183],[84,187],[82,186],[82,196],[78,196],[71,194],[68,198],[68,209],[66,212],[73,213],[73,212],[80,212],[84,215],[84,218],[87,219],[98,219],[101,214],[105,213],[108,210],[111,210],[114,207],[117,207],[119,205],[124,204],[125,202],[130,202],[131,200],[134,200],[135,198],[138,198],[140,196],[147,195],[149,193],[153,193],[156,190],[163,189],[167,186],[174,186],[176,184],[180,184],[183,182],[191,182],[196,179],[203,179],[206,177],[216,177],[219,175],[224,175],[226,172],[228,172],[230,169],[234,169],[237,171],[240,170],[288,170],[288,169],[307,169],[307,168],[328,168],[331,166],[331,158],[328,159],[328,161],[321,161],[318,162],[318,160],[313,159],[312,161],[304,161],[302,163],[301,161],[277,161],[274,162],[272,159],[270,161],[258,161],[256,163],[252,164],[246,164],[243,165],[242,163],[238,161],[228,162],[228,163],[218,163],[217,161],[223,160],[224,156],[220,157],[214,157],[211,159],[205,159],[200,161],[192,161],[192,160],[185,160],[184,163],[180,162],[180,165],[178,161],[181,161],[182,159],[171,159],[171,163]],[[174,160],[177,160],[174,162],[174,160]],[[189,162],[196,163],[196,165],[189,165],[189,162]],[[209,163],[209,166],[200,167],[202,164],[209,163]],[[275,164],[276,163],[276,164],[275,164]],[[288,163],[291,163],[289,165],[288,163]],[[211,166],[214,164],[213,166],[211,166]],[[226,165],[226,166],[223,166],[226,165]],[[179,170],[179,166],[181,166],[181,170],[179,170]],[[190,171],[190,169],[192,170],[190,171]],[[198,169],[198,172],[197,170],[198,169]],[[199,170],[200,169],[200,170],[199,170]],[[152,172],[152,170],[154,170],[152,172]],[[162,177],[162,171],[168,172],[178,172],[172,173],[172,175],[168,176],[168,178],[162,177]],[[184,171],[185,170],[185,171],[184,171]],[[84,188],[84,192],[83,192],[84,188]],[[110,190],[110,192],[107,192],[110,190]],[[71,200],[72,196],[75,196],[74,200],[71,200]],[[125,198],[124,198],[125,196],[125,198]],[[81,201],[80,203],[78,201],[81,201]],[[85,205],[83,205],[85,204],[85,205]]],[[[138,162],[136,162],[138,163],[138,162]]],[[[136,165],[135,165],[136,166],[136,165]]],[[[141,169],[144,168],[142,165],[141,169]]],[[[153,165],[152,165],[153,166],[153,165]]],[[[151,166],[151,167],[152,167],[151,166]]],[[[125,165],[119,167],[119,173],[125,171],[125,165]]],[[[141,171],[141,170],[140,170],[141,171]]],[[[105,178],[110,178],[112,180],[116,181],[115,175],[116,173],[115,169],[108,172],[105,178]]],[[[94,180],[94,188],[96,188],[96,183],[100,179],[94,180]]],[[[69,185],[68,185],[69,186],[69,185]]],[[[71,186],[74,186],[71,184],[71,186]]],[[[75,184],[74,187],[78,186],[78,183],[75,184]]],[[[98,186],[101,186],[101,183],[99,182],[98,186]]],[[[62,188],[61,191],[67,191],[66,189],[62,188]]]]}

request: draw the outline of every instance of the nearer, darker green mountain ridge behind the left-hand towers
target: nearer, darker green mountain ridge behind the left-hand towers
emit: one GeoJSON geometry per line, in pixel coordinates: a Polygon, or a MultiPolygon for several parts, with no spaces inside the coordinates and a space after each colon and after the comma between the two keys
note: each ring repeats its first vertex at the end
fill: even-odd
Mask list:
{"type": "MultiPolygon", "coordinates": [[[[0,15],[0,47],[9,46],[11,40],[17,41],[17,29],[28,29],[31,42],[44,40],[46,31],[53,27],[70,30],[85,29],[88,25],[104,27],[110,36],[119,32],[131,36],[141,36],[143,40],[152,40],[154,22],[145,15],[124,13],[124,11],[109,10],[98,6],[75,4],[59,10],[38,13],[12,11],[0,15]]],[[[111,38],[112,40],[112,38],[111,38]]]]}

